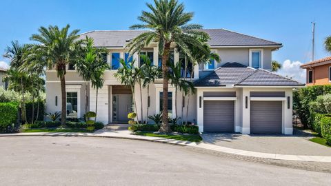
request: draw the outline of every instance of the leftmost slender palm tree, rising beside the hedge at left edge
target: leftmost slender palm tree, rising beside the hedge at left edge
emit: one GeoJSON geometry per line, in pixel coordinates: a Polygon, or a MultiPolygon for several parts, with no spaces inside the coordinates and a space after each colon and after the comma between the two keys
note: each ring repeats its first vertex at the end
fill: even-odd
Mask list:
{"type": "Polygon", "coordinates": [[[7,46],[5,50],[4,57],[10,59],[10,70],[8,70],[7,79],[10,83],[13,83],[11,86],[13,90],[21,92],[22,101],[21,101],[21,110],[22,110],[22,121],[26,122],[26,100],[24,94],[26,93],[26,79],[27,74],[24,72],[19,72],[19,68],[24,63],[24,55],[28,51],[28,45],[20,45],[19,41],[12,41],[11,46],[7,46]],[[19,85],[19,87],[18,87],[19,85]]]}

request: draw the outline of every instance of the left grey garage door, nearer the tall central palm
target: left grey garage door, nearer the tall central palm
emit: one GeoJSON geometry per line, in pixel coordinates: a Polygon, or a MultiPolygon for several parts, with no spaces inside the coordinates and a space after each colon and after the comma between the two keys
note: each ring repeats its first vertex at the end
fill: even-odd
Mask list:
{"type": "Polygon", "coordinates": [[[234,132],[234,101],[204,101],[203,132],[234,132]]]}

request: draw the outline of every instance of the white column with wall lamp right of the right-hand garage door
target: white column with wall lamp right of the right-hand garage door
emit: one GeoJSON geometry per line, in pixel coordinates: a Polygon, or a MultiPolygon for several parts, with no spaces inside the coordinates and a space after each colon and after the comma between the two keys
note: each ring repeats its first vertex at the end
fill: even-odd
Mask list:
{"type": "Polygon", "coordinates": [[[285,90],[286,101],[283,101],[283,134],[293,134],[292,113],[293,113],[293,97],[292,89],[285,90]],[[288,96],[290,97],[290,108],[288,108],[288,96]]]}

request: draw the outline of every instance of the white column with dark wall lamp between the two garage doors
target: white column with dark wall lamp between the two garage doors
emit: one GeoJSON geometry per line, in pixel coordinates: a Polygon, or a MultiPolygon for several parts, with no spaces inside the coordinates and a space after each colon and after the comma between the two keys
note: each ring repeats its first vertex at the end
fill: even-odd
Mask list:
{"type": "Polygon", "coordinates": [[[242,134],[250,134],[250,91],[243,88],[242,94],[242,113],[243,113],[243,126],[241,127],[242,134]],[[246,108],[246,96],[247,96],[247,108],[246,108]]]}

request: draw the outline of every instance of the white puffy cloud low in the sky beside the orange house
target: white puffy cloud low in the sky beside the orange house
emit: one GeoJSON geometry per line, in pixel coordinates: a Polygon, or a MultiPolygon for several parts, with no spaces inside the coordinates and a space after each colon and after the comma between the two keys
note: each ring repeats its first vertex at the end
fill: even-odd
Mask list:
{"type": "Polygon", "coordinates": [[[305,70],[300,68],[302,64],[300,61],[290,61],[290,59],[287,59],[283,62],[277,74],[305,83],[305,70]]]}

